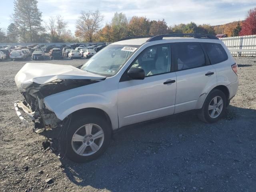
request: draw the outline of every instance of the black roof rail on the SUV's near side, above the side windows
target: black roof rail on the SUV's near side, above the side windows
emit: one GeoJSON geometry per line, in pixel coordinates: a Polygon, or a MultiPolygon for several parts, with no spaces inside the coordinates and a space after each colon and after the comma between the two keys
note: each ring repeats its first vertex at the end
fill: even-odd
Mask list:
{"type": "Polygon", "coordinates": [[[211,34],[198,34],[198,33],[177,33],[177,34],[165,34],[165,35],[157,35],[153,36],[152,38],[148,39],[147,42],[162,40],[164,37],[184,37],[184,36],[191,36],[193,38],[208,38],[208,39],[219,39],[214,35],[211,34]]]}

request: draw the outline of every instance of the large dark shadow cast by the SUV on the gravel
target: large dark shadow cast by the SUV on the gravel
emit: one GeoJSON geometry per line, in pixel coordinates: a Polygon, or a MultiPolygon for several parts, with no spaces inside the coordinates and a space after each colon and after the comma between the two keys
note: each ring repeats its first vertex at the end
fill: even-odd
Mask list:
{"type": "Polygon", "coordinates": [[[255,156],[255,124],[256,110],[234,106],[214,124],[200,122],[191,111],[136,124],[114,134],[97,160],[64,159],[64,172],[78,186],[110,191],[194,191],[196,186],[210,192],[220,185],[235,191],[241,184],[255,189],[246,174],[255,177],[256,167],[244,165],[255,156]]]}

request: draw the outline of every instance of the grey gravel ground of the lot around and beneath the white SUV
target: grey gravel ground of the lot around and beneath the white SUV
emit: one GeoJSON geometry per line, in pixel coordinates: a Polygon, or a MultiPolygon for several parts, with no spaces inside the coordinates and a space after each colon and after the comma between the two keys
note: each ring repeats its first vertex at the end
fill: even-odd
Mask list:
{"type": "Polygon", "coordinates": [[[0,191],[255,192],[256,58],[235,60],[239,88],[222,120],[205,124],[185,112],[130,126],[86,164],[61,161],[32,124],[22,125],[14,76],[28,61],[0,62],[0,191]]]}

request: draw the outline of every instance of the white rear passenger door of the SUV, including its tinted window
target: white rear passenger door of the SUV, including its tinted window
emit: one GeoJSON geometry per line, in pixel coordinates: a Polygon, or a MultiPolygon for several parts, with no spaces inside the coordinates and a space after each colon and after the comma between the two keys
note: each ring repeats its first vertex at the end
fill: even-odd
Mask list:
{"type": "Polygon", "coordinates": [[[175,113],[193,110],[209,86],[216,86],[216,70],[202,45],[195,42],[172,44],[177,76],[175,113]]]}

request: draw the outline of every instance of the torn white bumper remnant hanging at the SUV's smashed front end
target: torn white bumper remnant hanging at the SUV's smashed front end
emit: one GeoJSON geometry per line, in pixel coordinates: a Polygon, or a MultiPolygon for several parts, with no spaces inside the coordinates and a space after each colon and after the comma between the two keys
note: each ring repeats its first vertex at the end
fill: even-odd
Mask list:
{"type": "Polygon", "coordinates": [[[28,120],[26,120],[24,117],[22,117],[20,110],[22,110],[23,112],[25,112],[28,115],[28,117],[31,119],[30,121],[33,121],[35,123],[40,122],[38,118],[34,118],[35,112],[33,112],[32,110],[30,110],[30,108],[27,107],[27,104],[25,101],[19,101],[19,100],[15,101],[14,108],[15,108],[15,111],[16,111],[18,117],[26,126],[29,125],[28,120]]]}

